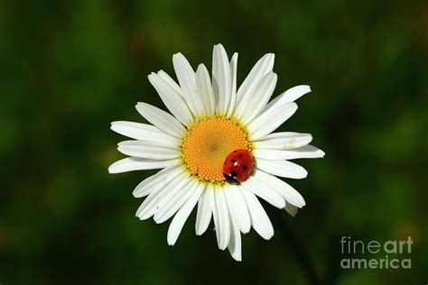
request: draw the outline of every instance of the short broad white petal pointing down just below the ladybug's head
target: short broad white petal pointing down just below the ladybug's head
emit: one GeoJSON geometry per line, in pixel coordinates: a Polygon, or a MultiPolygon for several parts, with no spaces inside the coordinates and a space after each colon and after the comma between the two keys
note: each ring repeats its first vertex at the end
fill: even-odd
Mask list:
{"type": "Polygon", "coordinates": [[[226,201],[230,216],[232,216],[237,227],[243,234],[247,234],[251,228],[251,219],[248,213],[246,200],[236,185],[224,187],[226,201]]]}

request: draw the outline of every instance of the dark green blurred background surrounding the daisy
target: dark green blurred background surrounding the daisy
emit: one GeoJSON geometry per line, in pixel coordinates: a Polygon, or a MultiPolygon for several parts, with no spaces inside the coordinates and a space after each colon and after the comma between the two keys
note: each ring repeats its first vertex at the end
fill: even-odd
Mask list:
{"type": "Polygon", "coordinates": [[[425,284],[427,51],[426,1],[1,1],[0,283],[425,284]],[[164,108],[147,74],[173,74],[178,51],[210,69],[218,42],[238,83],[274,52],[275,95],[312,86],[280,130],[327,153],[298,161],[295,218],[264,204],[275,235],[244,235],[243,262],[195,236],[194,213],[173,247],[169,223],[135,217],[155,171],[107,173],[123,157],[110,122],[164,108]],[[412,235],[412,269],[342,270],[342,235],[412,235]]]}

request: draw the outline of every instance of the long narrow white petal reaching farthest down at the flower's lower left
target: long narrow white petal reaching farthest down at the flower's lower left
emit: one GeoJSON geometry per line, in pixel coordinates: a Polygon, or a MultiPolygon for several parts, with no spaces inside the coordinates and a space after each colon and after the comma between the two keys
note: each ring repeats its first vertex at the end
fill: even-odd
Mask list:
{"type": "Polygon", "coordinates": [[[191,198],[189,198],[186,203],[180,208],[180,210],[177,212],[177,214],[173,217],[172,222],[170,224],[170,227],[168,228],[168,244],[174,245],[177,241],[181,229],[186,223],[187,218],[191,215],[191,210],[196,206],[196,203],[198,203],[198,200],[200,199],[200,195],[202,194],[204,189],[203,184],[198,184],[198,187],[191,195],[191,198]]]}

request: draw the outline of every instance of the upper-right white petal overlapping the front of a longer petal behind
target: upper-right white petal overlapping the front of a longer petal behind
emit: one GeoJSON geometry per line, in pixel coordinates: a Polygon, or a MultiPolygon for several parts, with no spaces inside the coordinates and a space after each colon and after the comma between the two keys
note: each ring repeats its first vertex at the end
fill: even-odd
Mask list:
{"type": "Polygon", "coordinates": [[[248,124],[260,113],[260,111],[263,110],[267,101],[269,101],[269,98],[274,93],[276,80],[276,74],[269,71],[265,77],[260,80],[259,84],[257,84],[257,87],[251,97],[247,96],[247,99],[240,101],[239,106],[246,110],[245,112],[242,112],[241,116],[237,117],[242,124],[248,124]]]}

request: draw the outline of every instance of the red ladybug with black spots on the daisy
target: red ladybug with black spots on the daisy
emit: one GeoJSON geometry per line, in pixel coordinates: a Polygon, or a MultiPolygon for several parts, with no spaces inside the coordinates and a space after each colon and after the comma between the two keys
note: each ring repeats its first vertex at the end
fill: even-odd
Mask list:
{"type": "Polygon", "coordinates": [[[223,163],[223,176],[230,184],[238,184],[251,174],[253,157],[247,150],[230,152],[223,163]]]}

